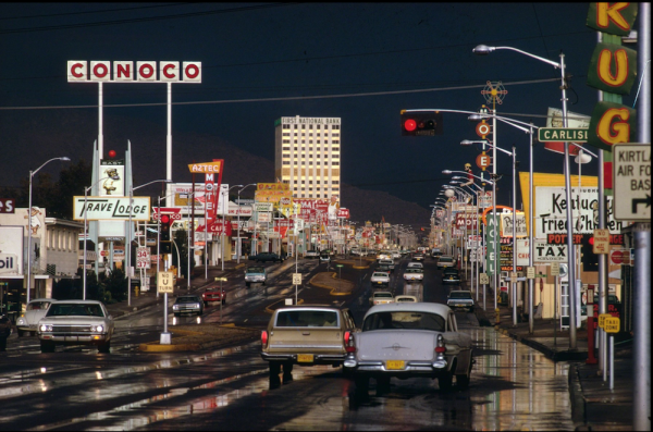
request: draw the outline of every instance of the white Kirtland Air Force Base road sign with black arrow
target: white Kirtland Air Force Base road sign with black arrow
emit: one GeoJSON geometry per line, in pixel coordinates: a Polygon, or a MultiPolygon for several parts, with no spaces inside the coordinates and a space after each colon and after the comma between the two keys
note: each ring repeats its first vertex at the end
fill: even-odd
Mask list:
{"type": "Polygon", "coordinates": [[[615,144],[613,160],[615,219],[651,221],[651,144],[615,144]]]}

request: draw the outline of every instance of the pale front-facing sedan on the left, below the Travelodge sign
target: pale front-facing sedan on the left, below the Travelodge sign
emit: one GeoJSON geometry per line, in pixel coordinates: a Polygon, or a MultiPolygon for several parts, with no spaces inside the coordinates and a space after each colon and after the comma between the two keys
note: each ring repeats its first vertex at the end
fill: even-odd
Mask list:
{"type": "Polygon", "coordinates": [[[57,345],[94,345],[108,354],[114,330],[113,317],[97,300],[57,300],[38,322],[41,353],[57,345]]]}

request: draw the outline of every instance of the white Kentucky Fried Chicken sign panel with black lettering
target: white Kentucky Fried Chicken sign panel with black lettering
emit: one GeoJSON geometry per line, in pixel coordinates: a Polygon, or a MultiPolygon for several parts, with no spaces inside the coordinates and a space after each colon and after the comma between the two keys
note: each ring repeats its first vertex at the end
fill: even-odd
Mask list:
{"type": "MultiPolygon", "coordinates": [[[[599,189],[596,187],[571,188],[571,210],[574,213],[574,233],[593,234],[599,227],[597,205],[599,189]]],[[[564,187],[535,187],[535,238],[545,239],[549,234],[566,234],[567,200],[564,187]]],[[[628,226],[628,222],[617,222],[614,219],[613,197],[607,197],[607,223],[612,234],[618,234],[628,226]]]]}

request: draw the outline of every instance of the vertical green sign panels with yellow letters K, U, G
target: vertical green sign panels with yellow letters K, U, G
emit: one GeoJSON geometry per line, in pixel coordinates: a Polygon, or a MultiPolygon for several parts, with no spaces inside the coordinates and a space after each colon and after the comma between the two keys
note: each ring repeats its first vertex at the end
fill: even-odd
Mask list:
{"type": "MultiPolygon", "coordinates": [[[[603,33],[604,40],[619,41],[632,29],[638,4],[590,3],[587,26],[603,33]],[[614,35],[614,36],[613,36],[614,35]]],[[[618,44],[597,44],[588,71],[588,85],[614,95],[594,106],[588,144],[612,151],[617,143],[632,143],[637,136],[637,111],[616,103],[616,95],[629,95],[637,77],[637,51],[618,44]]]]}

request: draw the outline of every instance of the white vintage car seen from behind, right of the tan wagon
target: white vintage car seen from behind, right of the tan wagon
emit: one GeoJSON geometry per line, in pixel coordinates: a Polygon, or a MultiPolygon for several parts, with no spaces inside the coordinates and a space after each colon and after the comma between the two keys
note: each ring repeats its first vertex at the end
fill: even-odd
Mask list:
{"type": "Polygon", "coordinates": [[[352,333],[344,367],[367,393],[370,378],[386,390],[392,377],[438,379],[441,390],[469,385],[471,337],[458,332],[456,316],[445,305],[393,303],[370,308],[361,331],[352,333]]]}

